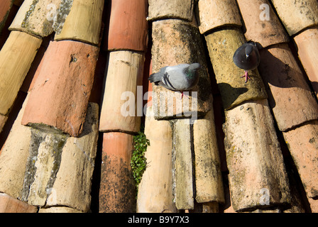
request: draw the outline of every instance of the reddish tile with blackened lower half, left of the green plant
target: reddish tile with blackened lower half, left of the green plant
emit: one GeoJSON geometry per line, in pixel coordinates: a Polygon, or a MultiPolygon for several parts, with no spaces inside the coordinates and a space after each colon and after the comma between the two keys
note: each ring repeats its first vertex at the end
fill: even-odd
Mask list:
{"type": "Polygon", "coordinates": [[[100,213],[136,211],[136,187],[131,170],[133,135],[104,133],[99,188],[100,213]]]}

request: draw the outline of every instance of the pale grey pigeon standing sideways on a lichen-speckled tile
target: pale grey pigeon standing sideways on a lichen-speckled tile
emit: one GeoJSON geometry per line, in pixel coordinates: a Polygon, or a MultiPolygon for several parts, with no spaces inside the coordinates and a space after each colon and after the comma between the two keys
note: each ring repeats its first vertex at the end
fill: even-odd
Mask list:
{"type": "Polygon", "coordinates": [[[171,91],[181,92],[182,98],[183,92],[190,91],[199,82],[197,70],[200,67],[199,63],[166,66],[150,74],[148,80],[171,91]]]}

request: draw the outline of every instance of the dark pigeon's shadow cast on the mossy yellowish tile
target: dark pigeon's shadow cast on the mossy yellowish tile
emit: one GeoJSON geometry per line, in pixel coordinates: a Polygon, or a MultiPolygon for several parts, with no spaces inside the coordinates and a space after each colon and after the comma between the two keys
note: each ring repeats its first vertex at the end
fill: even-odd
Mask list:
{"type": "Polygon", "coordinates": [[[234,104],[238,96],[248,92],[246,87],[231,87],[231,85],[227,83],[219,83],[218,87],[221,92],[224,109],[229,109],[229,107],[234,104]]]}

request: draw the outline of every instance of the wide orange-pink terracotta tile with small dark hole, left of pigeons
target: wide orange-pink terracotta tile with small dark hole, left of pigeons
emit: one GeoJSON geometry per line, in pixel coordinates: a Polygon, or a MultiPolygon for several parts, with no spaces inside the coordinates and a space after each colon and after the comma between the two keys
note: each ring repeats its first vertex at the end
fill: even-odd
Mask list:
{"type": "Polygon", "coordinates": [[[71,40],[50,42],[22,124],[78,136],[86,117],[98,51],[97,47],[71,40]]]}

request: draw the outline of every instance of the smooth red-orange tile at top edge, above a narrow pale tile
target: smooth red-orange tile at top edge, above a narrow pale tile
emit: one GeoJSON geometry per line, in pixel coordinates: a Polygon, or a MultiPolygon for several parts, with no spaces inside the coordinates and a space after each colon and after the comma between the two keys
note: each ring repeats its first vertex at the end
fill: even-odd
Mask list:
{"type": "Polygon", "coordinates": [[[145,51],[148,43],[147,12],[146,0],[111,1],[108,50],[145,51]]]}

